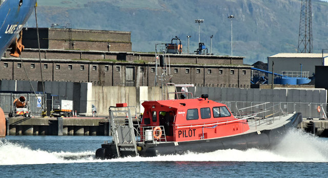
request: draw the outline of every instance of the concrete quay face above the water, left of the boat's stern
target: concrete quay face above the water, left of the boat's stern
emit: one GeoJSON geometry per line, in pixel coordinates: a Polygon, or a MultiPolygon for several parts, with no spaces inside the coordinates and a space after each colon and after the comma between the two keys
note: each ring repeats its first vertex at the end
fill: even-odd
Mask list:
{"type": "Polygon", "coordinates": [[[108,136],[108,118],[6,118],[7,136],[108,136]]]}

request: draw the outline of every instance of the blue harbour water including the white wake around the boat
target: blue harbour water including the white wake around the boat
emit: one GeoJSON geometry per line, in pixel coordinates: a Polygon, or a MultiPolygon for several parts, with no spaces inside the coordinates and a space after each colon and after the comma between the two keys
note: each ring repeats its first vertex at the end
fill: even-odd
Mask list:
{"type": "Polygon", "coordinates": [[[322,177],[328,139],[291,130],[272,150],[218,150],[155,158],[97,160],[100,136],[8,136],[0,140],[2,177],[322,177]]]}

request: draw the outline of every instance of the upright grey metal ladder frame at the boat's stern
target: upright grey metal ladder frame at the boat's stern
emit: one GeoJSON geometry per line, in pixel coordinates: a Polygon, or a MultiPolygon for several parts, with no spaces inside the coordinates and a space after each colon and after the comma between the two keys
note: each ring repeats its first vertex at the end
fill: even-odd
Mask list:
{"type": "MultiPolygon", "coordinates": [[[[134,109],[136,110],[135,107],[134,109]]],[[[132,146],[134,147],[135,155],[138,155],[130,107],[110,106],[109,116],[111,119],[110,128],[118,158],[120,157],[120,146],[132,146]],[[126,120],[128,120],[128,123],[126,123],[126,120]]]]}

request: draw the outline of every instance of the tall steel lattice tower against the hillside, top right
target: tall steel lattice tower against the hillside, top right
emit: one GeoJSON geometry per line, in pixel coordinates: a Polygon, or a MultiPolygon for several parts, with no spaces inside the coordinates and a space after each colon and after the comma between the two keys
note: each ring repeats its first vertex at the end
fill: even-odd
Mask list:
{"type": "Polygon", "coordinates": [[[311,0],[302,0],[299,20],[298,53],[312,53],[312,11],[311,0]]]}

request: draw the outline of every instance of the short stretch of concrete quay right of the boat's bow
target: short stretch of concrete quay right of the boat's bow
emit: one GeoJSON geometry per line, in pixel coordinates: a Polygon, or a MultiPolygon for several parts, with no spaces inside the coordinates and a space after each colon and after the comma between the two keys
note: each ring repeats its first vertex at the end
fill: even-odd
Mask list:
{"type": "Polygon", "coordinates": [[[298,124],[297,128],[315,134],[319,137],[328,137],[328,119],[303,119],[303,121],[298,124]]]}

